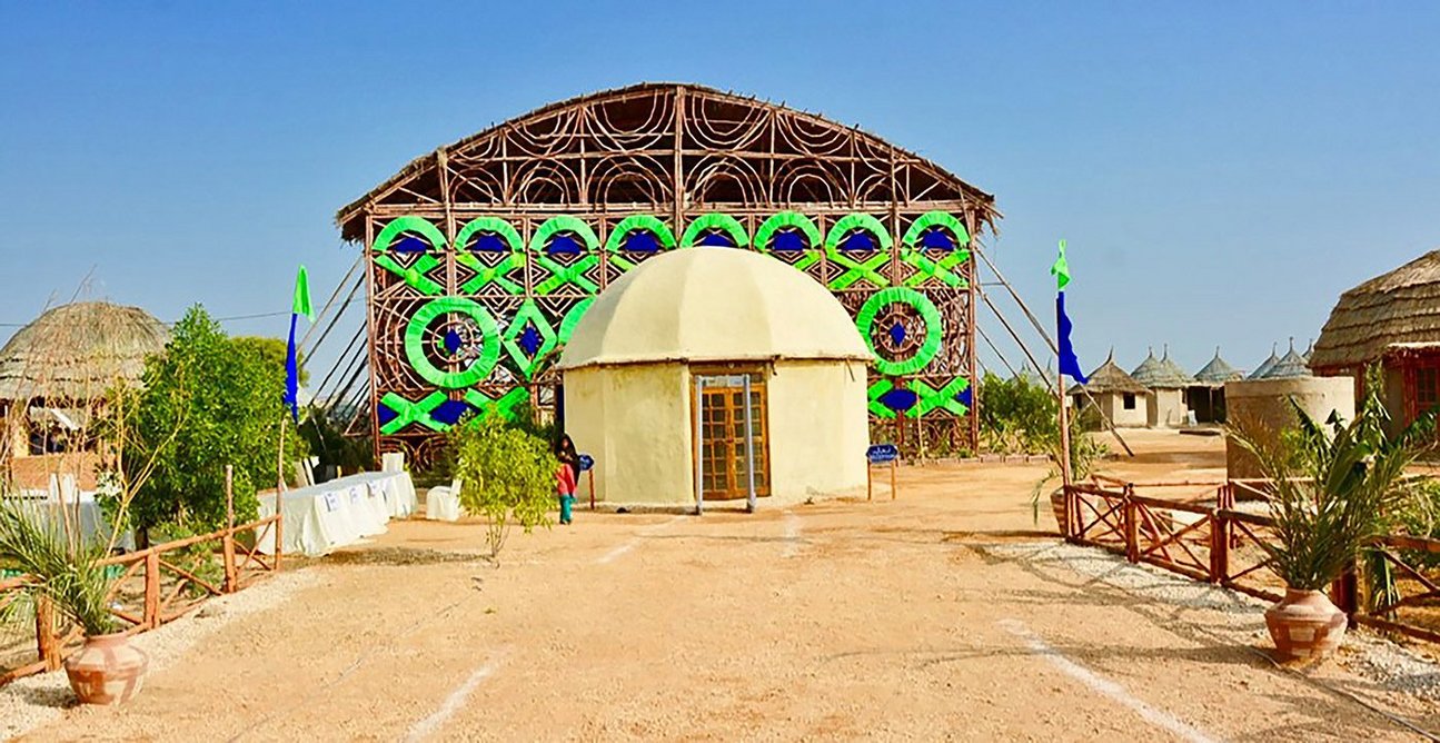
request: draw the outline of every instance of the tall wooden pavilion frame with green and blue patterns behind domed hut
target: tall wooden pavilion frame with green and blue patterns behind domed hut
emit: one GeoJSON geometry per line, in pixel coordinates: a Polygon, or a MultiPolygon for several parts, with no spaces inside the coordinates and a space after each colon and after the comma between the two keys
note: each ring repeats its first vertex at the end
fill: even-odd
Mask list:
{"type": "Polygon", "coordinates": [[[337,215],[367,255],[376,451],[423,464],[462,415],[553,405],[550,364],[595,294],[694,245],[825,284],[880,359],[873,420],[973,451],[972,258],[998,216],[935,163],[753,98],[642,84],[540,108],[337,215]]]}

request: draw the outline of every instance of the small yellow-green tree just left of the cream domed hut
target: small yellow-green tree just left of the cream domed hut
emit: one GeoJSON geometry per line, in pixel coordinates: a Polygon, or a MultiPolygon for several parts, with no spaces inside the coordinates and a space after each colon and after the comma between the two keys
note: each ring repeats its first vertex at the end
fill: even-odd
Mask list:
{"type": "Polygon", "coordinates": [[[528,534],[550,526],[554,505],[554,472],[559,462],[544,439],[508,428],[497,416],[456,426],[452,436],[455,477],[461,481],[459,503],[482,514],[491,559],[505,546],[513,526],[528,534]]]}

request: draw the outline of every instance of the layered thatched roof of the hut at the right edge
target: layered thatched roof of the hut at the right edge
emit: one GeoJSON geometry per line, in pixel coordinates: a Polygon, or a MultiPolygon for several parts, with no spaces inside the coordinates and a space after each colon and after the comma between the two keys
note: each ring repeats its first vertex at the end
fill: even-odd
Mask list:
{"type": "Polygon", "coordinates": [[[1310,366],[1358,366],[1380,359],[1395,343],[1436,341],[1440,341],[1440,251],[1342,294],[1315,341],[1310,366]]]}

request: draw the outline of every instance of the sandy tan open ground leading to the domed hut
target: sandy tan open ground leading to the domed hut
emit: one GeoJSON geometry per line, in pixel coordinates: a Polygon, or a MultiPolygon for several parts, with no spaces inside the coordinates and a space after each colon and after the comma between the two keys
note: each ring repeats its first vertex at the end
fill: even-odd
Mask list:
{"type": "MultiPolygon", "coordinates": [[[[1130,443],[1146,458],[1112,469],[1220,451],[1130,443]]],[[[1276,668],[1253,603],[1208,587],[1211,603],[1169,603],[1136,587],[1169,577],[1037,536],[1044,471],[904,468],[894,501],[753,515],[582,510],[513,536],[498,566],[475,559],[477,524],[392,524],[130,706],[72,708],[26,740],[1417,737],[1335,690],[1440,723],[1344,662],[1276,668]]]]}

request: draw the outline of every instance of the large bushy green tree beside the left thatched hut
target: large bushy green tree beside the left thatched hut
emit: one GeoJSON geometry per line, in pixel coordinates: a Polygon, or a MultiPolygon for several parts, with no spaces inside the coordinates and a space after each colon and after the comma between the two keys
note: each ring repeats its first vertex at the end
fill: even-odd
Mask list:
{"type": "MultiPolygon", "coordinates": [[[[225,524],[225,465],[235,465],[235,514],[255,517],[255,492],[275,482],[281,422],[289,415],[284,357],[272,343],[229,338],[206,311],[192,307],[163,354],[145,361],[144,387],[124,395],[124,474],[134,484],[128,515],[148,530],[170,524],[209,531],[225,524]],[[147,471],[138,468],[145,464],[147,471]]],[[[304,455],[287,438],[287,459],[304,455]]]]}

